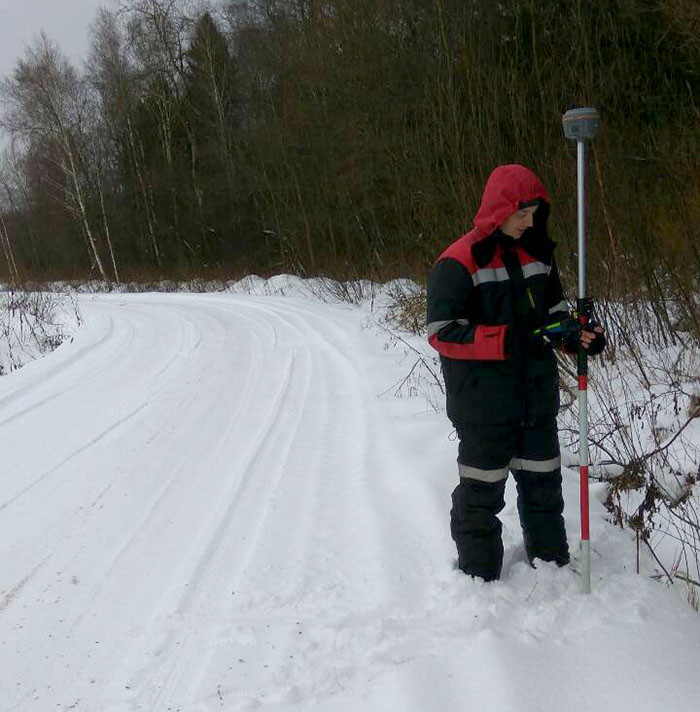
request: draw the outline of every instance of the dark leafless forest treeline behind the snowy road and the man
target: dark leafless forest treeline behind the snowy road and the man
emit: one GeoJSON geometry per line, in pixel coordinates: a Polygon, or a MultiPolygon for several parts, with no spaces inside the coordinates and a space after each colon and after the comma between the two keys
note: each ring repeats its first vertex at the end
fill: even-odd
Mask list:
{"type": "Polygon", "coordinates": [[[90,43],[2,84],[0,279],[421,279],[507,162],[570,276],[561,115],[594,105],[592,279],[694,299],[697,0],[132,0],[90,43]]]}

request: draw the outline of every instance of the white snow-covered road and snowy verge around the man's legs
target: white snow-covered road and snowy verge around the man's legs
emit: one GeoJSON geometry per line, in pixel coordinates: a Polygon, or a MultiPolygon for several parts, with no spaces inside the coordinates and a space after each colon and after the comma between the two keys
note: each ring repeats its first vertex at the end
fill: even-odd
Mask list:
{"type": "Polygon", "coordinates": [[[367,309],[79,301],[0,379],[3,712],[697,708],[700,616],[634,574],[601,485],[590,596],[526,565],[512,483],[503,580],[454,570],[456,443],[367,309]]]}

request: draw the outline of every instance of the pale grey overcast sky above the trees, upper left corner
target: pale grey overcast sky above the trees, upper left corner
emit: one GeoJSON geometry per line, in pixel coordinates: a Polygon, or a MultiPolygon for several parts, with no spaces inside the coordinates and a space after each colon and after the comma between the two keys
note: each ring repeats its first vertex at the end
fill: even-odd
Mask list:
{"type": "Polygon", "coordinates": [[[87,58],[88,25],[97,9],[116,0],[0,0],[0,77],[12,72],[24,45],[40,32],[74,63],[87,58]]]}

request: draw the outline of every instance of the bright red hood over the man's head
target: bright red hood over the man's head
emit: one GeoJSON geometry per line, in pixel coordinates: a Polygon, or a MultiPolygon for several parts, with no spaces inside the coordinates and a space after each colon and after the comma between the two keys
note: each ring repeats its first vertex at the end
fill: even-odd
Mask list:
{"type": "Polygon", "coordinates": [[[486,181],[474,225],[484,236],[490,235],[518,209],[519,203],[531,200],[549,203],[540,179],[529,168],[517,163],[498,166],[486,181]]]}

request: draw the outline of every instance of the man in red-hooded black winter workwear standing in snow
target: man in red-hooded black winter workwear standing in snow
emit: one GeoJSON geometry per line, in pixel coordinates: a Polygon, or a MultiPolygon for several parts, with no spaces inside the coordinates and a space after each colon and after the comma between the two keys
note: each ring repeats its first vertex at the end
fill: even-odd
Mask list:
{"type": "Polygon", "coordinates": [[[498,513],[509,471],[530,563],[569,563],[554,347],[576,353],[580,339],[595,355],[605,336],[599,325],[581,329],[566,322],[555,245],[547,234],[549,209],[531,170],[497,167],[474,228],[440,255],[428,275],[428,338],[440,354],[447,415],[459,439],[450,529],[459,568],[485,581],[501,574],[498,513]],[[535,333],[562,320],[575,328],[560,334],[559,344],[535,333]]]}

